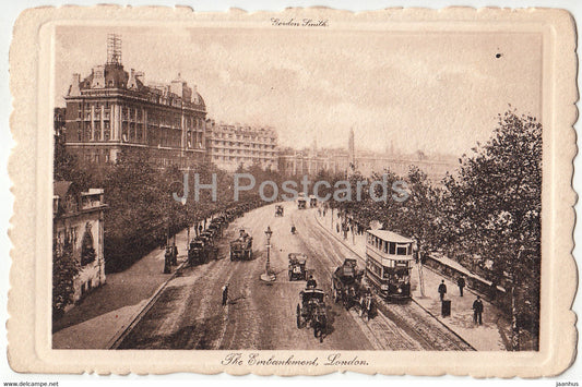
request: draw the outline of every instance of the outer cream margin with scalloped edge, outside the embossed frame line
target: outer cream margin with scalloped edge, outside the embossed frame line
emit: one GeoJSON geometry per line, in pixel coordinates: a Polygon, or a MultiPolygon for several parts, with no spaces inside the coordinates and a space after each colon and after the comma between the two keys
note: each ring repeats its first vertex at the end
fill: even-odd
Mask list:
{"type": "MultiPolygon", "coordinates": [[[[313,9],[287,9],[283,12],[311,12],[311,10],[321,11],[321,8],[313,9]]],[[[464,16],[465,20],[470,16],[488,16],[502,17],[508,13],[544,13],[546,17],[546,25],[549,25],[554,32],[554,43],[556,44],[556,56],[554,65],[557,62],[561,63],[559,71],[555,71],[556,75],[554,104],[555,110],[553,114],[554,129],[559,132],[557,136],[555,149],[560,149],[555,153],[555,159],[559,171],[558,176],[553,176],[553,183],[556,184],[556,197],[554,201],[555,218],[558,223],[554,225],[553,235],[556,238],[556,243],[553,244],[555,257],[559,265],[560,271],[551,279],[550,291],[545,292],[543,300],[549,295],[556,295],[559,292],[559,298],[554,298],[551,301],[550,327],[553,332],[550,337],[550,347],[548,349],[548,358],[544,364],[541,364],[533,374],[528,372],[527,367],[508,370],[466,370],[460,371],[453,365],[450,366],[431,366],[431,367],[412,367],[405,371],[376,370],[373,372],[366,372],[365,370],[337,370],[340,372],[356,371],[365,373],[382,373],[382,374],[411,374],[411,375],[442,375],[447,371],[453,375],[471,374],[476,377],[500,376],[500,377],[538,377],[538,376],[554,376],[562,373],[573,362],[575,358],[575,314],[571,311],[573,298],[577,290],[577,270],[575,262],[572,256],[573,250],[573,227],[574,227],[574,210],[575,192],[571,185],[573,176],[573,159],[577,154],[575,148],[575,132],[573,124],[577,121],[575,101],[578,100],[578,89],[575,86],[577,75],[577,56],[575,56],[575,27],[572,16],[563,10],[499,10],[499,9],[479,9],[471,8],[454,8],[443,10],[426,10],[426,9],[389,9],[382,11],[369,11],[353,13],[349,11],[326,10],[334,15],[354,14],[358,19],[365,20],[397,20],[409,21],[423,20],[427,15],[433,17],[435,15],[443,16],[444,14],[456,14],[464,16]],[[414,16],[414,17],[413,17],[414,16]],[[557,288],[560,289],[557,289],[557,288]],[[565,347],[571,350],[563,350],[565,347]],[[387,372],[388,371],[388,372],[387,372]]],[[[253,12],[246,13],[241,10],[231,10],[226,13],[205,13],[194,14],[190,8],[169,9],[165,7],[119,7],[119,5],[103,5],[95,8],[39,8],[26,10],[19,16],[14,25],[13,40],[10,49],[10,87],[14,97],[14,111],[11,114],[10,126],[14,137],[14,148],[9,160],[9,173],[13,181],[12,193],[14,199],[14,215],[11,218],[11,230],[9,231],[10,239],[13,243],[11,251],[12,267],[10,270],[11,289],[9,291],[9,321],[8,328],[8,356],[11,367],[16,372],[44,372],[44,373],[83,373],[83,372],[98,372],[103,374],[118,373],[128,374],[135,372],[143,373],[168,373],[178,371],[192,371],[199,373],[215,374],[224,370],[212,368],[197,368],[193,366],[190,370],[183,367],[147,367],[140,365],[124,365],[119,363],[110,364],[104,367],[103,365],[95,365],[92,368],[59,366],[47,363],[41,359],[36,349],[36,322],[35,311],[35,293],[37,279],[35,278],[35,247],[37,229],[37,165],[35,157],[39,149],[37,148],[37,135],[39,128],[37,120],[38,104],[37,104],[37,85],[38,85],[38,33],[43,25],[50,21],[60,19],[67,20],[79,17],[84,14],[83,19],[91,17],[103,20],[106,15],[111,16],[115,12],[115,17],[139,17],[141,20],[154,21],[150,17],[152,13],[156,13],[156,17],[165,16],[176,17],[180,21],[191,20],[197,17],[204,20],[246,20],[257,14],[271,14],[253,12]],[[193,17],[194,16],[194,17],[193,17]],[[32,157],[31,157],[32,156],[32,157]],[[34,247],[33,247],[34,246],[34,247]]],[[[539,22],[539,21],[538,21],[539,22]]],[[[556,68],[554,68],[556,70],[556,68]]],[[[51,147],[50,147],[50,152],[51,147]]],[[[546,171],[544,171],[546,176],[546,171]]],[[[546,282],[544,282],[546,285],[546,282]]],[[[441,354],[437,354],[441,356],[441,354]]],[[[317,374],[329,374],[335,371],[318,370],[317,374]]],[[[248,374],[251,372],[225,372],[231,374],[248,374]]],[[[285,372],[270,372],[270,371],[252,371],[258,375],[286,375],[285,372]]],[[[298,374],[298,373],[293,373],[298,374]]],[[[313,373],[310,373],[313,374],[313,373]]]]}

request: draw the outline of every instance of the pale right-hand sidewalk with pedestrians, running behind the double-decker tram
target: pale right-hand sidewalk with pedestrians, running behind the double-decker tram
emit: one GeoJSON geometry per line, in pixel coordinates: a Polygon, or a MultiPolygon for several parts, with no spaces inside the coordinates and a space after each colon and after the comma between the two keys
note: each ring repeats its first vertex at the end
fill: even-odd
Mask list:
{"type": "MultiPolygon", "coordinates": [[[[330,232],[348,249],[358,254],[361,259],[366,259],[366,235],[353,235],[351,232],[347,239],[344,240],[342,233],[336,232],[335,223],[337,217],[334,211],[333,227],[330,211],[325,217],[319,216],[314,213],[317,221],[330,230],[330,232]]],[[[473,301],[476,299],[476,293],[464,289],[464,297],[459,295],[459,288],[446,277],[442,277],[426,266],[423,268],[424,290],[425,295],[420,293],[419,286],[419,266],[413,265],[411,273],[411,289],[413,300],[424,310],[430,313],[435,318],[453,330],[456,335],[465,339],[471,346],[478,351],[504,351],[509,342],[508,337],[511,330],[510,321],[503,313],[491,305],[486,300],[483,300],[484,313],[483,325],[473,324],[473,301]],[[446,300],[451,300],[451,315],[449,317],[441,316],[441,302],[437,291],[441,280],[447,285],[446,300]]],[[[483,298],[482,298],[483,299],[483,298]]]]}

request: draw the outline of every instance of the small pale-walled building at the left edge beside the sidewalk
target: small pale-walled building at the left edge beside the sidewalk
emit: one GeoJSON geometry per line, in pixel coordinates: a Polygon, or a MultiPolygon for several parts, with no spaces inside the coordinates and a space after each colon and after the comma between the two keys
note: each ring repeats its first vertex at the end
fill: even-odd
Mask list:
{"type": "Polygon", "coordinates": [[[74,301],[105,283],[103,190],[76,192],[71,182],[56,181],[52,197],[54,254],[69,246],[80,271],[73,279],[74,301]]]}

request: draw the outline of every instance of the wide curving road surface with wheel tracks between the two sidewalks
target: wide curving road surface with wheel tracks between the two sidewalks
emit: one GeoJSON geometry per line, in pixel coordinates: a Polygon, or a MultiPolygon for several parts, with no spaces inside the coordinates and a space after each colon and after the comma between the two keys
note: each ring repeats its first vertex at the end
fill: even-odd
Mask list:
{"type": "Polygon", "coordinates": [[[182,269],[155,304],[124,337],[120,349],[228,350],[470,350],[471,347],[415,303],[383,304],[369,322],[328,298],[330,328],[323,342],[309,328],[296,326],[296,307],[305,281],[287,278],[287,254],[308,255],[307,267],[318,288],[330,293],[331,274],[353,257],[363,262],[317,221],[316,209],[284,204],[285,216],[274,217],[274,205],[257,208],[230,223],[221,240],[219,259],[182,269]],[[290,227],[297,227],[297,234],[290,227]],[[275,282],[260,280],[265,269],[264,230],[270,226],[271,267],[275,282]],[[245,228],[253,238],[253,259],[231,262],[228,241],[245,228]],[[228,282],[229,302],[222,306],[228,282]]]}

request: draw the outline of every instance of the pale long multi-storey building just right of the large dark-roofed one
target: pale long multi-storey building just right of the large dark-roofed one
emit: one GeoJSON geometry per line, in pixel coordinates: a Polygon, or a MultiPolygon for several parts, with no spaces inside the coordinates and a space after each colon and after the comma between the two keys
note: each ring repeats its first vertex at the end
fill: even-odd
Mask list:
{"type": "Polygon", "coordinates": [[[252,165],[273,171],[278,168],[277,133],[269,126],[216,124],[209,120],[206,148],[209,160],[229,172],[252,165]]]}

